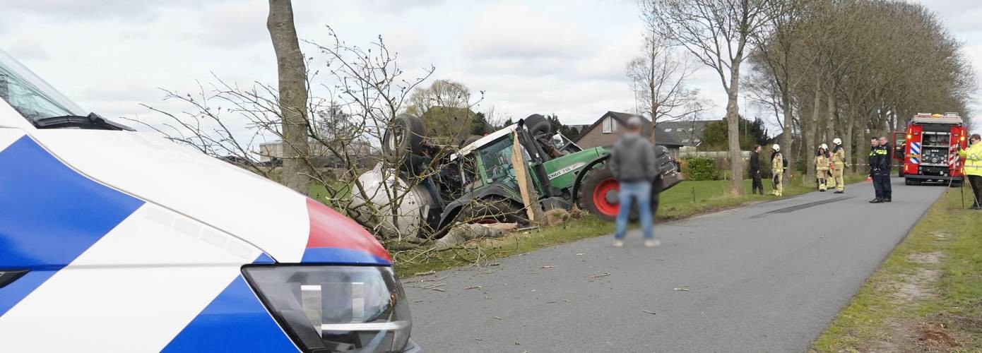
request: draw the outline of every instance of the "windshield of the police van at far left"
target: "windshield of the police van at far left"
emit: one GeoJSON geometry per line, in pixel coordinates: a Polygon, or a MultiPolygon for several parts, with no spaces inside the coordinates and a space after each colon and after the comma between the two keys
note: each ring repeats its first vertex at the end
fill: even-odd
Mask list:
{"type": "Polygon", "coordinates": [[[46,118],[87,114],[3,50],[0,50],[0,99],[14,107],[30,123],[46,118]]]}

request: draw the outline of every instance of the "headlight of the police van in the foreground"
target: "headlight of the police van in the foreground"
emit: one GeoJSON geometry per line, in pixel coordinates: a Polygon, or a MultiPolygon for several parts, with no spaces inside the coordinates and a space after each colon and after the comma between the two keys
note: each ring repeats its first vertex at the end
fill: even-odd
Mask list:
{"type": "Polygon", "coordinates": [[[402,352],[412,322],[388,267],[248,266],[246,280],[307,352],[402,352]]]}

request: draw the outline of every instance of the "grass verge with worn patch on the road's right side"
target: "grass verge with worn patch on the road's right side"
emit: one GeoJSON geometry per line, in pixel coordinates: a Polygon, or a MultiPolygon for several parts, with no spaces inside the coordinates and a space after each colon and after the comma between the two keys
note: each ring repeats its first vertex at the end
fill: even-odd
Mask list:
{"type": "Polygon", "coordinates": [[[812,351],[982,351],[982,213],[960,197],[938,199],[812,351]]]}

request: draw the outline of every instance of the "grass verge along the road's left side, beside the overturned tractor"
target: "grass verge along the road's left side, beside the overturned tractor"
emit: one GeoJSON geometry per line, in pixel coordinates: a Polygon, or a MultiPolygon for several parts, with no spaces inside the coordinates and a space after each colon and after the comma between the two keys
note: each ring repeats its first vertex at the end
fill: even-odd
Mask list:
{"type": "MultiPolygon", "coordinates": [[[[864,179],[864,176],[854,176],[846,179],[846,182],[864,179]]],[[[814,191],[814,187],[804,186],[800,177],[785,183],[784,197],[814,191]]],[[[764,180],[764,185],[767,190],[771,189],[770,181],[764,180]]],[[[734,197],[729,194],[729,180],[684,181],[661,194],[658,219],[679,220],[775,199],[770,195],[750,195],[750,180],[744,180],[743,188],[744,195],[734,197]]],[[[586,216],[556,227],[518,231],[493,239],[475,239],[441,251],[414,249],[393,252],[392,258],[396,274],[405,278],[464,266],[495,266],[496,260],[504,257],[613,231],[613,224],[586,216]]]]}

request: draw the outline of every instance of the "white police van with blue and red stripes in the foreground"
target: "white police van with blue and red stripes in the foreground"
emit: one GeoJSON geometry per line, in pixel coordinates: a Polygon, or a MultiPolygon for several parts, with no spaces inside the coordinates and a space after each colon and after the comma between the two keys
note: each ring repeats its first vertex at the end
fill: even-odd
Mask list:
{"type": "Polygon", "coordinates": [[[0,351],[419,352],[411,327],[364,228],[0,51],[0,351]]]}

